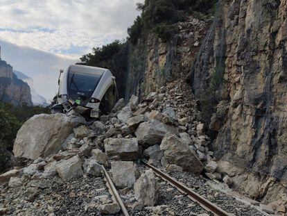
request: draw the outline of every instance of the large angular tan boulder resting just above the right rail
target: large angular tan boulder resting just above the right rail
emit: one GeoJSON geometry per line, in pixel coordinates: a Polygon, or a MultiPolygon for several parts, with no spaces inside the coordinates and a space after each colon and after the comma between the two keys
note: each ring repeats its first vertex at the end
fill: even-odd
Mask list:
{"type": "Polygon", "coordinates": [[[203,165],[195,152],[189,148],[180,138],[174,134],[167,134],[162,140],[160,149],[164,151],[164,156],[168,163],[175,164],[183,168],[184,171],[199,174],[203,165]]]}

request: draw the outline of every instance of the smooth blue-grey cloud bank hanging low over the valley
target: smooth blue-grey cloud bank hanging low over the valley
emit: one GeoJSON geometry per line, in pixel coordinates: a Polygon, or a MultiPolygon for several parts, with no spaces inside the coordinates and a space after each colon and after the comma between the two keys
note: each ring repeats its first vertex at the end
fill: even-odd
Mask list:
{"type": "Polygon", "coordinates": [[[34,88],[50,101],[58,91],[60,69],[77,63],[78,59],[58,56],[30,47],[19,47],[0,40],[1,58],[13,69],[33,78],[34,88]]]}

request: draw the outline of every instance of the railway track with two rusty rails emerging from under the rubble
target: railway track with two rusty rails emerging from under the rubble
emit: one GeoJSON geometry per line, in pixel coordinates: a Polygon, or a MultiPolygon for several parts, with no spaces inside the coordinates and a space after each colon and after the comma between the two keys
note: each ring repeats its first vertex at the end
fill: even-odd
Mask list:
{"type": "MultiPolygon", "coordinates": [[[[162,183],[165,183],[166,185],[171,185],[169,187],[162,185],[161,183],[161,198],[162,201],[159,201],[158,205],[167,205],[170,206],[170,209],[175,210],[175,215],[180,215],[182,214],[181,211],[178,211],[177,208],[175,207],[176,205],[178,206],[178,203],[175,204],[174,202],[177,202],[177,199],[173,199],[173,197],[182,197],[182,201],[184,201],[184,206],[181,206],[180,209],[184,210],[185,213],[182,215],[189,215],[192,211],[195,210],[195,212],[201,212],[201,213],[208,213],[208,214],[202,214],[202,215],[220,215],[220,216],[232,216],[232,215],[246,215],[247,212],[239,212],[238,211],[234,212],[230,210],[229,208],[226,208],[223,206],[218,206],[218,202],[216,201],[209,201],[205,197],[202,197],[202,195],[198,192],[195,192],[195,190],[192,190],[191,188],[186,187],[183,183],[180,181],[177,181],[175,178],[169,176],[168,174],[165,174],[161,170],[157,169],[153,165],[150,165],[146,163],[145,161],[141,160],[141,165],[142,167],[146,167],[148,169],[152,169],[153,172],[161,179],[162,183]],[[174,190],[171,190],[170,187],[173,187],[174,190]],[[182,195],[179,195],[182,194],[182,195]],[[186,197],[184,199],[184,197],[186,197]],[[191,203],[190,203],[191,202],[191,203]],[[187,203],[187,204],[186,204],[187,203]],[[190,203],[190,204],[188,204],[190,203]],[[194,204],[192,204],[194,203],[194,204]],[[191,205],[191,207],[189,207],[191,205]],[[195,207],[194,207],[195,206],[195,207]],[[198,206],[198,207],[196,207],[198,206]],[[174,208],[175,207],[175,208],[174,208]],[[200,210],[201,209],[201,210],[200,210]],[[230,210],[230,211],[229,211],[230,210]]],[[[141,167],[141,166],[140,166],[141,167]]],[[[142,169],[145,170],[145,169],[142,169]]],[[[114,184],[112,183],[112,179],[110,178],[109,174],[107,173],[105,167],[103,167],[103,176],[105,177],[105,180],[107,181],[107,187],[110,190],[110,194],[112,194],[112,199],[116,201],[116,203],[119,204],[121,207],[121,214],[126,216],[126,215],[149,215],[147,209],[149,208],[143,208],[143,212],[141,210],[136,210],[134,211],[132,208],[128,207],[125,208],[125,205],[123,201],[121,200],[121,197],[119,193],[116,191],[116,188],[114,187],[114,184]]],[[[132,192],[132,191],[131,191],[132,192]]],[[[126,199],[123,199],[126,201],[126,199]]],[[[238,205],[238,203],[237,203],[238,205]]],[[[234,206],[236,206],[236,203],[234,203],[234,206]]],[[[191,214],[192,215],[192,214],[191,214]]],[[[247,213],[248,215],[248,213],[247,213]]],[[[254,215],[259,215],[259,214],[254,214],[254,215]]],[[[267,215],[267,214],[260,214],[260,215],[267,215]]]]}

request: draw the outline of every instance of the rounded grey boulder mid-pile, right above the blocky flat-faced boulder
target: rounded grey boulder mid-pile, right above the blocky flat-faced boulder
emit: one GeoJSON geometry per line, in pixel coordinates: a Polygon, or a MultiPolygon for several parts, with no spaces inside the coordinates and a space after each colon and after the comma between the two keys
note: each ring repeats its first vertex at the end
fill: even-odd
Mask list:
{"type": "Polygon", "coordinates": [[[137,128],[135,135],[137,136],[137,140],[139,140],[139,144],[149,147],[155,144],[160,144],[166,133],[179,134],[177,128],[174,126],[170,126],[153,119],[149,122],[141,123],[137,128]]]}

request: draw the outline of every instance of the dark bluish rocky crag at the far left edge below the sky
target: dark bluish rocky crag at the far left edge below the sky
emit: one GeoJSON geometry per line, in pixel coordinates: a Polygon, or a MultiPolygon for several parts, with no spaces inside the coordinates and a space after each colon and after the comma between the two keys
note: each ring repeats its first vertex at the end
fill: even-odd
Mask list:
{"type": "Polygon", "coordinates": [[[12,71],[12,66],[0,60],[0,101],[15,106],[22,104],[33,106],[29,85],[17,78],[12,71]]]}

